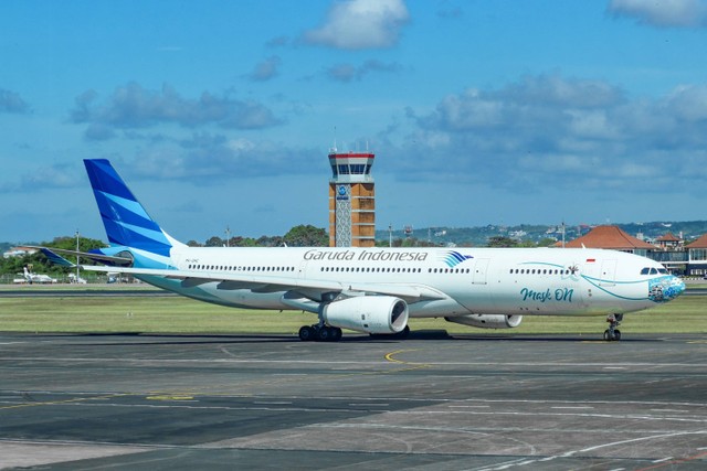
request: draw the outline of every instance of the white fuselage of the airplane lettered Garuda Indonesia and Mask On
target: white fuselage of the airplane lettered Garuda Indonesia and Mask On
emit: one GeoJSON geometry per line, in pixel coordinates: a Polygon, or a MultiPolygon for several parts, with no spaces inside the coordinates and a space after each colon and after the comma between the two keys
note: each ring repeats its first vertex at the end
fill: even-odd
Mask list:
{"type": "Polygon", "coordinates": [[[653,260],[602,249],[182,246],[172,247],[170,258],[187,277],[138,277],[191,298],[257,309],[295,309],[283,302],[286,292],[318,301],[327,286],[331,292],[390,293],[407,299],[416,318],[632,312],[667,300],[656,289],[682,283],[653,260]],[[303,288],[273,288],[271,279],[274,287],[303,288]],[[411,290],[423,296],[405,296],[411,290]]]}

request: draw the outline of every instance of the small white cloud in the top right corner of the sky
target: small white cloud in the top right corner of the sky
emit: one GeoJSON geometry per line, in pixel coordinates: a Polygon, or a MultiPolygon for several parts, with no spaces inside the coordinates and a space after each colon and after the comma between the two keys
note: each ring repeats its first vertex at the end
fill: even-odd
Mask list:
{"type": "Polygon", "coordinates": [[[704,0],[611,0],[609,12],[658,28],[707,26],[704,0]]]}

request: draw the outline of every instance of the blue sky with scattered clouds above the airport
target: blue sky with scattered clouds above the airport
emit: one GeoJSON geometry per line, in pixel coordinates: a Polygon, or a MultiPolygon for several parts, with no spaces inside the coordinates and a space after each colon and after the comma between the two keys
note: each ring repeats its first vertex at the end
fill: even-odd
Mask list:
{"type": "Polygon", "coordinates": [[[0,7],[0,240],[105,238],[83,159],[172,236],[707,218],[707,0],[0,7]]]}

